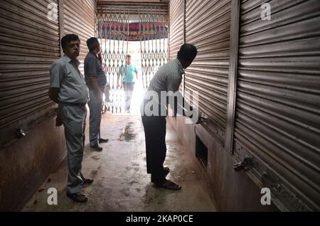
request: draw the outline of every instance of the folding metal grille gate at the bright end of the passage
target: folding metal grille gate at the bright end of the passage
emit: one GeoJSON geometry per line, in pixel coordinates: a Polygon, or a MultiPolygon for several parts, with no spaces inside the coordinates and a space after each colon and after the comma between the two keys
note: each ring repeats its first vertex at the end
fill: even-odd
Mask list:
{"type": "MultiPolygon", "coordinates": [[[[105,110],[113,114],[124,113],[124,87],[117,86],[117,77],[122,65],[126,64],[127,54],[139,53],[141,60],[137,68],[143,92],[148,89],[156,70],[168,62],[167,15],[167,6],[97,7],[97,37],[102,46],[103,68],[110,83],[105,110]]],[[[136,102],[140,100],[136,99],[136,102]]]]}

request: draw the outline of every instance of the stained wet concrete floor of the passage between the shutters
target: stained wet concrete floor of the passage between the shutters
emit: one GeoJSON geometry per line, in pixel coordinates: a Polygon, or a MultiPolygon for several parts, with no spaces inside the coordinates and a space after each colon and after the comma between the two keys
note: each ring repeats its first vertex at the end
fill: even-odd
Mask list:
{"type": "Polygon", "coordinates": [[[169,124],[165,166],[171,168],[167,178],[182,185],[178,192],[154,188],[150,183],[150,176],[146,174],[144,130],[140,117],[106,113],[101,132],[102,137],[110,142],[102,144],[103,151],[97,152],[90,149],[87,141],[82,164],[85,176],[95,179],[92,185],[83,189],[89,201],[74,203],[66,197],[67,167],[63,161],[23,211],[215,211],[200,181],[200,172],[196,171],[169,124]],[[57,188],[58,205],[47,204],[48,188],[57,188]]]}

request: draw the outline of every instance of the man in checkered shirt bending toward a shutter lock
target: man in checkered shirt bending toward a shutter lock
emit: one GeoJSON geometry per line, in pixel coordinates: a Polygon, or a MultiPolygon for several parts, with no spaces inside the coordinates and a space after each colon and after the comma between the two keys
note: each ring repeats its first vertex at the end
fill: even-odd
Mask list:
{"type": "MultiPolygon", "coordinates": [[[[166,176],[170,171],[169,168],[164,168],[164,160],[166,158],[166,116],[168,115],[166,109],[170,97],[180,96],[182,102],[185,103],[178,89],[181,85],[184,69],[191,65],[197,53],[196,46],[191,44],[182,45],[178,51],[178,58],[162,66],[156,72],[144,97],[142,123],[144,124],[146,137],[146,168],[147,173],[151,173],[151,182],[158,188],[181,189],[181,185],[166,180],[166,176]],[[163,98],[162,96],[161,98],[164,93],[166,97],[163,98]],[[150,108],[151,111],[148,106],[152,106],[150,108]]],[[[176,116],[178,99],[174,99],[174,104],[170,105],[174,116],[176,116]]],[[[183,115],[186,115],[184,112],[183,115]]],[[[192,117],[194,118],[195,115],[192,115],[192,117]]],[[[200,123],[198,114],[195,122],[200,123]]]]}

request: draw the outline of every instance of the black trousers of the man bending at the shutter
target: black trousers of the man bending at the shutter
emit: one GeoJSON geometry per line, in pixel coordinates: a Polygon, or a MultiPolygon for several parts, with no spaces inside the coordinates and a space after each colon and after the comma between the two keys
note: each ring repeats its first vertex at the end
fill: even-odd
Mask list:
{"type": "Polygon", "coordinates": [[[166,117],[142,116],[142,124],[146,136],[146,171],[151,173],[152,183],[162,183],[166,181],[166,117]]]}

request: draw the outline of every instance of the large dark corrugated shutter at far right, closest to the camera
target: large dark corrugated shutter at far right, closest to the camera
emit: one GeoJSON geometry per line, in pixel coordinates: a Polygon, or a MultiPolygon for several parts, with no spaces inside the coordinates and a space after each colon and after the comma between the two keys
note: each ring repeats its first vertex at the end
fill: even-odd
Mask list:
{"type": "Polygon", "coordinates": [[[242,1],[235,154],[290,210],[320,210],[320,4],[242,1]]]}

